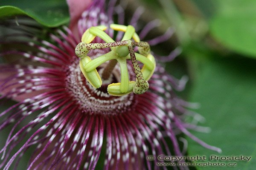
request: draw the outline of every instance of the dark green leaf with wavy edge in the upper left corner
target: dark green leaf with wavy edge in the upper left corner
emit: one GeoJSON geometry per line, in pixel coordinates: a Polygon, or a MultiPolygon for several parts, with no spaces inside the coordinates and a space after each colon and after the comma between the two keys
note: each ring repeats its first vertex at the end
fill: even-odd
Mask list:
{"type": "Polygon", "coordinates": [[[2,0],[0,6],[0,18],[27,15],[47,27],[69,22],[65,0],[2,0]]]}

